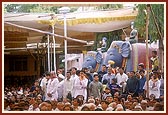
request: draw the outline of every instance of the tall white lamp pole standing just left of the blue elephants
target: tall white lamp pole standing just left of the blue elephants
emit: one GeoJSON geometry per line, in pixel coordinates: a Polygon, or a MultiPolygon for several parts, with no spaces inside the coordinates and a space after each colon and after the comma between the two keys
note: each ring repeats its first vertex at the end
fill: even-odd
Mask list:
{"type": "MultiPolygon", "coordinates": [[[[67,37],[67,24],[66,24],[66,14],[64,13],[64,36],[67,37]]],[[[64,40],[64,50],[65,50],[65,76],[67,72],[67,40],[64,40]]]]}

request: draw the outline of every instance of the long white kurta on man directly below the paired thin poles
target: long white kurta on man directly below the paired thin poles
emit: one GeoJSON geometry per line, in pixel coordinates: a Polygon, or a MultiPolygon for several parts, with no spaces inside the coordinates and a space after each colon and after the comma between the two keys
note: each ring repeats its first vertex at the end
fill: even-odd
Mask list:
{"type": "Polygon", "coordinates": [[[47,85],[47,93],[51,93],[52,97],[49,97],[48,95],[46,96],[45,100],[56,100],[58,98],[58,92],[57,92],[57,87],[58,87],[58,78],[53,78],[52,80],[49,79],[48,85],[47,85]]]}

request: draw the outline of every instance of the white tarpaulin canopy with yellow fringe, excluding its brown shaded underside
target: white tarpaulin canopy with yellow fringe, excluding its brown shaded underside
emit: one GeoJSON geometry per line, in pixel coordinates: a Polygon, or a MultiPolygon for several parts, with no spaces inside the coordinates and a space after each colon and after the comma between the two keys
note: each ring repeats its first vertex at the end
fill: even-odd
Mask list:
{"type": "MultiPolygon", "coordinates": [[[[89,11],[67,14],[68,30],[81,32],[108,32],[128,27],[135,20],[136,11],[132,8],[113,11],[89,11]]],[[[63,16],[55,14],[50,20],[49,14],[5,14],[4,21],[37,29],[48,29],[55,25],[63,29],[63,16]]],[[[9,27],[5,28],[9,29],[9,27]]]]}

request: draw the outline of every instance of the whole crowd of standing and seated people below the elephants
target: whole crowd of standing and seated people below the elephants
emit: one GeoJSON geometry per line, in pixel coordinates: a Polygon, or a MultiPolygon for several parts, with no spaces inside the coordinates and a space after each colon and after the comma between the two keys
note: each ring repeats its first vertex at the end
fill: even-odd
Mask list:
{"type": "Polygon", "coordinates": [[[154,67],[147,83],[144,64],[137,68],[45,72],[31,87],[6,86],[4,111],[164,111],[164,74],[154,67]]]}

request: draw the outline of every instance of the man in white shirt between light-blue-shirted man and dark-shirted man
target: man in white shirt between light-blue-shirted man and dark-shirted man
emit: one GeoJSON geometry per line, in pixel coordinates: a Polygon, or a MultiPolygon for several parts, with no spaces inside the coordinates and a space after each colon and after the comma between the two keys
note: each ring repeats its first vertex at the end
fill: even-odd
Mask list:
{"type": "Polygon", "coordinates": [[[122,87],[122,93],[125,92],[126,82],[128,80],[127,74],[124,73],[124,68],[119,68],[119,73],[116,75],[117,84],[122,87]]]}

